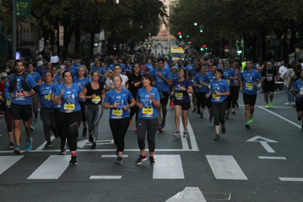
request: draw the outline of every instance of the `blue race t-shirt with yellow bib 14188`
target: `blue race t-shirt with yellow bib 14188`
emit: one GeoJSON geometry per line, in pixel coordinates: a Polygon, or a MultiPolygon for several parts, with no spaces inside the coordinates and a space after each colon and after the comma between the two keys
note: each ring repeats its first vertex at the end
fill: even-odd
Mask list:
{"type": "Polygon", "coordinates": [[[152,87],[150,91],[146,91],[144,87],[140,88],[137,92],[137,99],[139,99],[139,103],[143,104],[143,108],[139,109],[139,118],[145,119],[153,119],[158,117],[158,111],[155,107],[154,103],[149,99],[148,94],[152,94],[155,101],[160,100],[160,95],[157,88],[152,87]]]}

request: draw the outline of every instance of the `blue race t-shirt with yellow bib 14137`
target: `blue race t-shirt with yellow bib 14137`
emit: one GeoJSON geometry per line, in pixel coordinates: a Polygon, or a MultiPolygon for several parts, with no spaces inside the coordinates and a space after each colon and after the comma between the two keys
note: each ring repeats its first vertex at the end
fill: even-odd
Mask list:
{"type": "Polygon", "coordinates": [[[119,103],[117,108],[111,108],[109,111],[109,118],[110,119],[119,119],[119,118],[126,118],[130,117],[128,110],[124,110],[123,106],[128,105],[128,100],[132,100],[134,98],[132,93],[125,88],[122,88],[121,92],[118,93],[115,89],[111,89],[107,92],[104,102],[108,102],[109,105],[114,103],[119,103]]]}

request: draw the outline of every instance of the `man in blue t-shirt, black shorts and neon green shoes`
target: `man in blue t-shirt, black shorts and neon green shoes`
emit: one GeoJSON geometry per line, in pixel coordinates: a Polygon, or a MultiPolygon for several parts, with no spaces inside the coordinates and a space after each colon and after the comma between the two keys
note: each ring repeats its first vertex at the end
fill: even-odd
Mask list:
{"type": "Polygon", "coordinates": [[[243,93],[245,104],[245,118],[247,129],[251,129],[250,124],[253,121],[255,103],[257,99],[257,85],[263,83],[264,79],[257,70],[252,69],[252,61],[246,61],[246,70],[242,72],[240,80],[240,92],[243,93]],[[259,79],[259,81],[258,81],[259,79]]]}

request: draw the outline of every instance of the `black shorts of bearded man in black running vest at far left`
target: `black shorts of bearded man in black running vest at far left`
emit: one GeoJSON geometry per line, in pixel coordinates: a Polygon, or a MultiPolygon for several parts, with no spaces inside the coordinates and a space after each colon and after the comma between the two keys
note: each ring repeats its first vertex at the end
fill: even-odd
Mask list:
{"type": "Polygon", "coordinates": [[[29,121],[32,118],[32,105],[31,104],[15,104],[11,103],[11,110],[13,121],[20,120],[29,121]]]}

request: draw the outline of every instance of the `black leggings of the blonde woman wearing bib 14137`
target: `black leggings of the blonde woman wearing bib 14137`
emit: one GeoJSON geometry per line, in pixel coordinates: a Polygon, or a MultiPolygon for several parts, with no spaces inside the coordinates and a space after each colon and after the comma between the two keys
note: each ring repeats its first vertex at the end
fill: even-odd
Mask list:
{"type": "Polygon", "coordinates": [[[122,119],[109,119],[109,126],[111,127],[115,145],[118,151],[124,151],[124,137],[129,126],[129,117],[122,119]]]}

